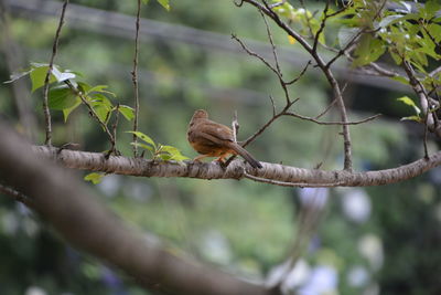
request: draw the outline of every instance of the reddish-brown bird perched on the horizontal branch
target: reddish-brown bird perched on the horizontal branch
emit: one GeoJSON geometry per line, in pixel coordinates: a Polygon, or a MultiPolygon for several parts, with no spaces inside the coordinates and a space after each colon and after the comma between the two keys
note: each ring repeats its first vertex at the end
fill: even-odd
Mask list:
{"type": "Polygon", "coordinates": [[[205,109],[194,112],[189,125],[187,139],[190,145],[201,154],[194,158],[195,161],[205,157],[218,157],[217,161],[223,164],[230,154],[240,155],[252,168],[262,168],[258,160],[235,143],[233,130],[208,119],[208,113],[205,109]]]}

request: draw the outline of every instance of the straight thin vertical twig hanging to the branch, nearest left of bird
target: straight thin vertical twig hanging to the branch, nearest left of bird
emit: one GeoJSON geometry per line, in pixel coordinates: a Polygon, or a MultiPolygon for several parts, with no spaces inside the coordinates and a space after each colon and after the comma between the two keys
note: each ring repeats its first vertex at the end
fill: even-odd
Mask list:
{"type": "MultiPolygon", "coordinates": [[[[135,56],[133,56],[133,71],[131,72],[131,80],[133,82],[135,91],[135,119],[133,131],[138,131],[138,117],[139,117],[139,87],[138,87],[138,51],[139,51],[139,22],[141,14],[141,0],[138,0],[137,21],[136,21],[136,35],[135,35],[135,56]]],[[[133,157],[138,157],[138,137],[133,134],[133,157]]]]}

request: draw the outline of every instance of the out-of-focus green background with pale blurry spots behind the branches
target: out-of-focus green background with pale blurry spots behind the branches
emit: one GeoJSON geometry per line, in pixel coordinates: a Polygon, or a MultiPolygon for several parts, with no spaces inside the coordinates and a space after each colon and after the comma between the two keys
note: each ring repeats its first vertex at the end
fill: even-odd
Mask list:
{"type": "MultiPolygon", "coordinates": [[[[49,62],[60,2],[2,1],[9,24],[1,28],[0,81],[4,82],[11,71],[30,62],[49,62]]],[[[283,106],[276,76],[230,38],[234,33],[271,57],[255,9],[237,8],[229,0],[172,0],[168,12],[150,2],[141,12],[141,131],[195,157],[186,141],[194,109],[205,108],[227,125],[237,110],[239,139],[245,139],[270,118],[270,95],[278,107],[283,106]]],[[[312,10],[322,7],[320,1],[311,2],[312,10]]],[[[71,3],[55,63],[82,72],[90,84],[109,85],[118,102],[133,105],[130,71],[137,1],[71,3]]],[[[284,75],[295,77],[308,55],[276,28],[272,34],[284,75]]],[[[409,89],[349,74],[345,63],[337,64],[336,73],[342,84],[347,83],[344,96],[352,119],[384,114],[351,127],[356,170],[396,167],[421,157],[422,128],[399,120],[410,110],[396,98],[411,96],[409,89]]],[[[30,86],[28,80],[20,83],[30,86]]],[[[42,144],[42,93],[23,93],[30,110],[26,118],[37,123],[35,141],[42,144]]],[[[323,75],[314,69],[290,93],[300,98],[295,110],[308,116],[320,114],[332,98],[323,75]]],[[[11,84],[0,85],[0,114],[20,130],[14,94],[11,84]]],[[[108,148],[105,134],[85,109],[76,109],[67,123],[61,112],[53,112],[53,117],[54,145],[77,143],[82,150],[93,151],[108,148]]],[[[326,119],[338,116],[331,112],[326,119]]],[[[118,149],[128,156],[131,136],[123,131],[130,128],[131,123],[121,118],[118,149]]],[[[304,168],[322,162],[323,169],[341,169],[338,131],[281,118],[248,150],[262,161],[304,168]]],[[[429,148],[437,147],[429,141],[429,148]]],[[[86,172],[77,173],[80,178],[86,172]]],[[[440,294],[440,175],[437,168],[398,185],[320,190],[246,180],[107,176],[90,189],[121,220],[146,232],[147,239],[178,255],[251,280],[275,280],[301,238],[305,242],[295,244],[302,244],[301,256],[284,282],[286,288],[299,294],[440,294]]],[[[0,294],[146,294],[130,277],[64,244],[22,204],[8,198],[0,198],[0,294]]]]}

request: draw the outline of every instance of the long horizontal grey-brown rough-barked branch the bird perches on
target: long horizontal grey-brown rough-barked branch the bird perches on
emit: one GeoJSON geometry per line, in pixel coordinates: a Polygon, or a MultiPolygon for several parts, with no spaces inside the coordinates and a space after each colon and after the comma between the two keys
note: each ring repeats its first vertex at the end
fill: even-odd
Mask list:
{"type": "Polygon", "coordinates": [[[243,160],[234,160],[225,169],[217,162],[186,161],[182,165],[175,162],[152,161],[104,154],[75,150],[62,150],[45,146],[35,146],[33,150],[39,156],[56,159],[68,168],[101,171],[117,175],[139,177],[190,177],[200,179],[241,179],[245,172],[260,179],[276,180],[288,183],[331,186],[331,187],[367,187],[381,186],[404,181],[441,164],[441,151],[431,155],[428,159],[420,159],[408,165],[392,169],[367,172],[351,172],[346,170],[324,171],[318,169],[303,169],[279,164],[261,162],[263,168],[254,169],[243,160]]]}

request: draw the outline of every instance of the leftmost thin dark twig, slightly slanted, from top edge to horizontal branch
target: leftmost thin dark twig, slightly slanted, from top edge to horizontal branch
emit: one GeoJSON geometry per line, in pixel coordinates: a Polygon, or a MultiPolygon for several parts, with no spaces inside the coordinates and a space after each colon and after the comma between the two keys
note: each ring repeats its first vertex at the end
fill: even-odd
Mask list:
{"type": "Polygon", "coordinates": [[[54,43],[52,45],[51,61],[49,63],[46,76],[44,77],[43,112],[44,112],[44,122],[45,122],[45,126],[46,126],[45,127],[46,128],[46,139],[45,139],[44,144],[46,146],[52,146],[52,123],[51,123],[51,112],[49,110],[49,84],[50,84],[49,82],[50,82],[51,74],[52,74],[52,67],[54,66],[56,51],[58,49],[60,33],[61,33],[63,24],[64,24],[64,15],[66,12],[67,4],[68,4],[68,0],[65,0],[64,4],[63,4],[63,9],[62,9],[62,15],[60,17],[58,28],[56,29],[54,43]]]}

